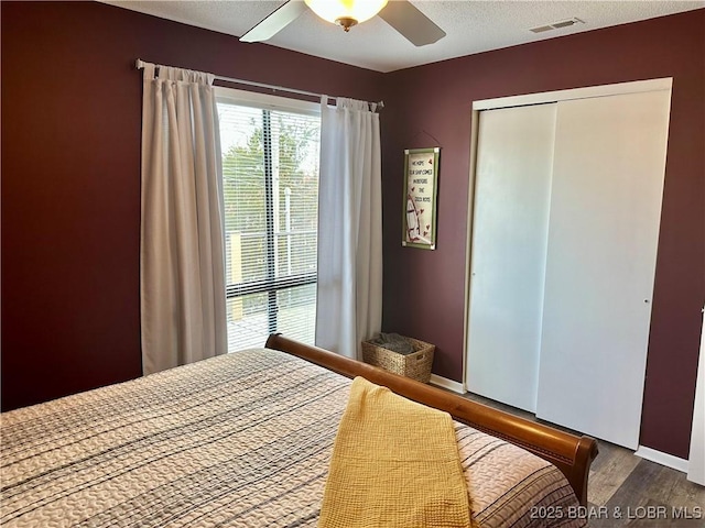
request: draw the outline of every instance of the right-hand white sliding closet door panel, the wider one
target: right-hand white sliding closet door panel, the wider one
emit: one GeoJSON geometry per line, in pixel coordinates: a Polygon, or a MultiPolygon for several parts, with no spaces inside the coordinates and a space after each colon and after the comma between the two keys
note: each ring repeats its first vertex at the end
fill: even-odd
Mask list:
{"type": "Polygon", "coordinates": [[[558,103],[536,414],[636,449],[670,91],[558,103]]]}

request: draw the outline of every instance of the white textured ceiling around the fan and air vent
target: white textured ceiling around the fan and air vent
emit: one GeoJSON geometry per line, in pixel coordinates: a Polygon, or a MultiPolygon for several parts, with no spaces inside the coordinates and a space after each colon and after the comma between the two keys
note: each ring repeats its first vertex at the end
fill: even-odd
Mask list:
{"type": "MultiPolygon", "coordinates": [[[[241,36],[283,1],[102,0],[208,30],[241,36]]],[[[435,1],[413,0],[447,36],[415,47],[379,16],[345,33],[306,12],[268,44],[378,72],[434,63],[705,7],[705,1],[435,1]],[[534,34],[530,28],[577,18],[584,24],[534,34]]],[[[261,44],[249,44],[261,45],[261,44]]]]}

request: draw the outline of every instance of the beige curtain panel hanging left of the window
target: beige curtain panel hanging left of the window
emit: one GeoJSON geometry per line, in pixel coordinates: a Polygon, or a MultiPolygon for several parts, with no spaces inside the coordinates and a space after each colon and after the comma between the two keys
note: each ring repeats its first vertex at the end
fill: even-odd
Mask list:
{"type": "Polygon", "coordinates": [[[144,64],[140,240],[144,374],[227,352],[213,80],[209,74],[144,64]]]}

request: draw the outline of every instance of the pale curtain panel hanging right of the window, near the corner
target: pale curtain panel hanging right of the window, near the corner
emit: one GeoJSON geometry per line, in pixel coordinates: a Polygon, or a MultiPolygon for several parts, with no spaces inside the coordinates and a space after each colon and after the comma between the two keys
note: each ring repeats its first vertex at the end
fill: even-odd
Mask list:
{"type": "Polygon", "coordinates": [[[382,323],[382,191],[376,106],[321,103],[316,344],[352,359],[382,323]]]}

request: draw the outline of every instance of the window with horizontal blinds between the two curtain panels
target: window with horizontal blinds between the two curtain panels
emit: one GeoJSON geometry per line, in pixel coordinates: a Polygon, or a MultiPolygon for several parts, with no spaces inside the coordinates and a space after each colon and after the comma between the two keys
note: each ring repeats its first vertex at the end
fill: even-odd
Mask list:
{"type": "Polygon", "coordinates": [[[318,106],[217,88],[228,350],[314,342],[318,106]]]}

